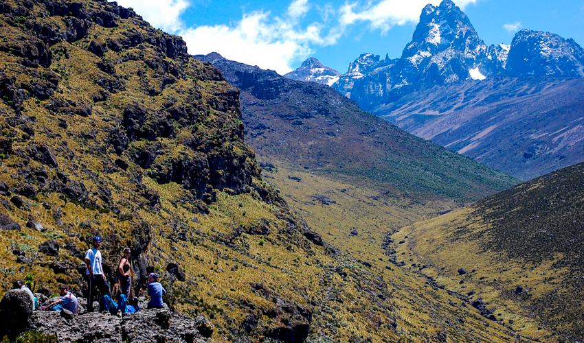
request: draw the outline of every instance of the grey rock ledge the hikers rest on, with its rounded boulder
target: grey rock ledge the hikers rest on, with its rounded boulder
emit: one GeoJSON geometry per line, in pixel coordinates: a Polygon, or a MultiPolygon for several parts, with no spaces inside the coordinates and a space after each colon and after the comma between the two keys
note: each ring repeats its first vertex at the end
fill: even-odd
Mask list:
{"type": "MultiPolygon", "coordinates": [[[[52,302],[55,298],[47,300],[52,302]]],[[[30,296],[12,289],[0,301],[0,335],[16,338],[26,331],[56,335],[58,342],[208,342],[213,325],[203,316],[196,319],[173,314],[168,308],[144,309],[135,314],[111,316],[85,312],[85,298],[78,298],[80,314],[67,310],[33,311],[30,296]]],[[[142,304],[144,298],[142,298],[142,304]]]]}

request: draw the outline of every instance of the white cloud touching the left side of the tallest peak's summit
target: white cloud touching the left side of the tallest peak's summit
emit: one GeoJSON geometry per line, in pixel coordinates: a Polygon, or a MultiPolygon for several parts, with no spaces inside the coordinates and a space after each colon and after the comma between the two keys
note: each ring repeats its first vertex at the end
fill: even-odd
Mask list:
{"type": "MultiPolygon", "coordinates": [[[[477,0],[457,0],[456,5],[464,9],[477,0]]],[[[341,8],[341,24],[352,25],[358,21],[369,22],[374,29],[388,31],[393,26],[406,23],[417,23],[425,5],[440,5],[441,0],[381,0],[375,4],[359,5],[356,2],[347,2],[341,8]],[[363,10],[355,11],[356,8],[363,10]]]]}

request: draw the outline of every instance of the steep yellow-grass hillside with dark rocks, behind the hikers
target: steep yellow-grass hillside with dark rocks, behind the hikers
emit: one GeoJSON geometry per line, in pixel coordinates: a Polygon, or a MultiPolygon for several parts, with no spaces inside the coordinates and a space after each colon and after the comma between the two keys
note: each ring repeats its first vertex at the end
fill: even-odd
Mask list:
{"type": "MultiPolygon", "coordinates": [[[[2,47],[16,36],[22,38],[19,44],[32,41],[41,30],[27,29],[27,24],[42,21],[65,27],[64,18],[58,15],[40,19],[48,3],[27,1],[25,4],[32,8],[23,8],[20,1],[5,2],[19,15],[10,20],[0,18],[3,32],[15,35],[6,36],[2,47]]],[[[106,3],[82,3],[91,11],[111,9],[106,3]]],[[[67,11],[65,14],[68,16],[67,11]]],[[[162,41],[170,38],[139,18],[115,17],[115,21],[117,27],[91,23],[87,35],[70,43],[58,40],[50,47],[54,58],[47,67],[25,67],[14,49],[0,50],[1,70],[16,80],[16,90],[25,89],[30,80],[40,82],[40,78],[30,76],[33,72],[49,75],[52,71],[60,78],[56,93],[43,99],[24,91],[28,96],[21,108],[15,98],[0,102],[0,180],[10,187],[10,194],[0,195],[1,211],[21,226],[21,230],[0,231],[2,290],[8,289],[13,279],[27,274],[34,276],[37,290],[51,292],[58,283],[69,283],[80,290],[83,282],[76,268],[82,263],[88,238],[99,233],[105,239],[102,252],[107,268],[117,263],[122,246],[141,249],[140,259],[163,275],[162,282],[170,291],[166,300],[193,316],[212,318],[216,340],[242,336],[260,340],[282,330],[298,320],[282,310],[287,305],[312,311],[310,335],[315,339],[396,341],[400,335],[418,341],[437,340],[444,335],[454,340],[510,339],[510,331],[485,323],[475,312],[460,305],[445,305],[448,300],[456,301],[445,292],[425,289],[412,298],[409,294],[415,289],[426,287],[423,281],[401,271],[382,275],[344,252],[308,241],[300,231],[302,220],[278,201],[254,171],[253,154],[240,139],[237,103],[230,102],[232,88],[218,78],[216,71],[196,60],[170,58],[164,53],[166,44],[130,42],[131,46],[121,51],[109,49],[103,58],[87,51],[94,39],[126,45],[124,37],[133,32],[162,41]],[[113,72],[98,70],[98,62],[108,61],[113,62],[113,72]],[[170,78],[169,70],[178,70],[170,84],[164,80],[170,78]],[[106,93],[105,99],[96,99],[102,92],[96,78],[108,77],[125,86],[106,93]],[[69,100],[66,108],[48,110],[56,99],[69,100]],[[196,113],[194,123],[164,117],[163,105],[168,100],[183,106],[181,113],[196,113]],[[166,121],[157,122],[154,128],[170,122],[175,133],[129,139],[129,146],[116,153],[110,134],[115,129],[127,129],[122,117],[128,104],[144,106],[149,116],[161,113],[166,121]],[[90,115],[84,113],[87,107],[92,109],[90,115]],[[193,140],[204,148],[192,147],[193,140]],[[57,167],[43,158],[31,158],[30,149],[43,144],[54,152],[57,167]],[[137,165],[134,152],[153,145],[159,156],[144,169],[137,165]],[[153,177],[155,171],[169,168],[169,161],[211,161],[217,157],[224,158],[220,161],[225,168],[221,164],[209,167],[214,180],[204,179],[203,171],[188,174],[192,180],[203,178],[214,188],[203,189],[216,193],[216,199],[206,198],[208,205],[200,200],[207,197],[205,194],[188,189],[191,179],[167,183],[153,177]],[[122,162],[127,164],[125,169],[116,167],[123,166],[122,162]],[[45,171],[46,176],[38,176],[45,171]],[[221,176],[241,180],[243,186],[226,187],[223,182],[227,180],[221,176]],[[84,185],[87,198],[72,199],[71,192],[67,195],[51,186],[65,177],[69,185],[84,185]],[[36,195],[22,196],[24,206],[17,208],[10,199],[15,193],[27,193],[23,191],[25,185],[32,185],[36,195]],[[26,227],[30,219],[46,230],[26,227]],[[267,227],[269,234],[246,233],[257,227],[267,227]],[[60,246],[56,257],[38,251],[39,244],[49,239],[60,246]],[[25,260],[19,261],[14,250],[23,252],[25,260]],[[55,262],[64,263],[65,272],[55,272],[55,262]],[[169,262],[177,263],[185,272],[185,281],[172,280],[165,271],[169,262]],[[254,286],[256,283],[263,287],[254,286]],[[248,331],[243,328],[244,322],[249,324],[248,331]]]]}

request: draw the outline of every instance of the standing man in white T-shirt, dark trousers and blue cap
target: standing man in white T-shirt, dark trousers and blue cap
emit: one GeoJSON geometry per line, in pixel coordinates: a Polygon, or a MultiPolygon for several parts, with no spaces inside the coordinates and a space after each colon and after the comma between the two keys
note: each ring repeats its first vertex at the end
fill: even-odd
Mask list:
{"type": "MultiPolygon", "coordinates": [[[[102,238],[99,236],[93,237],[93,248],[85,252],[85,266],[87,268],[85,272],[85,278],[87,280],[87,311],[93,311],[93,297],[96,295],[96,291],[99,289],[102,296],[109,296],[109,283],[107,283],[106,276],[104,274],[102,265],[102,253],[100,252],[100,246],[102,244],[102,238]]],[[[102,302],[100,302],[101,304],[102,302]]]]}

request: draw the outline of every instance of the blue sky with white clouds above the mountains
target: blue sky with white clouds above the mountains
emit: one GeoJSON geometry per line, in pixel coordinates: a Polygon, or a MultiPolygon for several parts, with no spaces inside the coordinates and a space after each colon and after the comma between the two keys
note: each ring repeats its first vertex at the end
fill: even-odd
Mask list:
{"type": "MultiPolygon", "coordinates": [[[[486,44],[538,29],[584,45],[584,0],[454,0],[486,44]]],[[[411,40],[426,3],[440,0],[118,0],[155,27],[185,38],[191,54],[286,73],[309,56],[346,71],[359,54],[391,58],[411,40]]]]}

